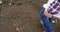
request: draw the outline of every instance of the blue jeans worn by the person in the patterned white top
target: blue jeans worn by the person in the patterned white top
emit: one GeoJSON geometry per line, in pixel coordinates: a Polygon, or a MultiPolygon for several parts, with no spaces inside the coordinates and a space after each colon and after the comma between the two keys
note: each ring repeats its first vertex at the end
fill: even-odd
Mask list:
{"type": "Polygon", "coordinates": [[[51,25],[53,18],[45,17],[44,11],[45,11],[45,8],[42,8],[42,10],[40,11],[40,18],[43,21],[44,27],[46,28],[47,32],[54,32],[51,25]]]}

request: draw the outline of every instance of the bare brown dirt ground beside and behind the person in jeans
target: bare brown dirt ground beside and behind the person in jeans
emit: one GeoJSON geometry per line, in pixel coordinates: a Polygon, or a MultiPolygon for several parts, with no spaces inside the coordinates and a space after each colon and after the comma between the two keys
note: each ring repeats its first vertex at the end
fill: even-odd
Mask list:
{"type": "MultiPolygon", "coordinates": [[[[13,4],[0,5],[0,32],[42,32],[39,12],[40,0],[14,0],[13,4]]],[[[53,24],[55,32],[60,32],[60,20],[53,24]]]]}

